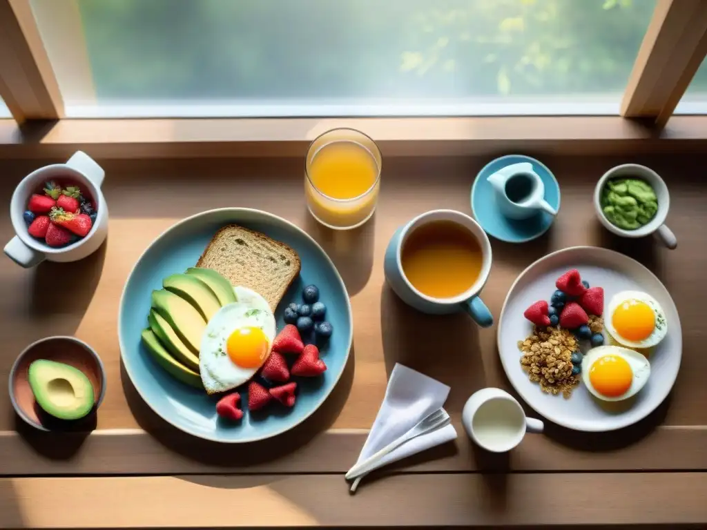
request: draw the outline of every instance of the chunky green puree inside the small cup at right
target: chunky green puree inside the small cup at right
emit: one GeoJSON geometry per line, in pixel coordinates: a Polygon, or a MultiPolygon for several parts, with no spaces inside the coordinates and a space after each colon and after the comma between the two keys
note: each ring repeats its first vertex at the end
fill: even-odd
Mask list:
{"type": "Polygon", "coordinates": [[[658,212],[658,197],[641,179],[612,179],[602,189],[602,211],[612,225],[636,230],[658,212]]]}

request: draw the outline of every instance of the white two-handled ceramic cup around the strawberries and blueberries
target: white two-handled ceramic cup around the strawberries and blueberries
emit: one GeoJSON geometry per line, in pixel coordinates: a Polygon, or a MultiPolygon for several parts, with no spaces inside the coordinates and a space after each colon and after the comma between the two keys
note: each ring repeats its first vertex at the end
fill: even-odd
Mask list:
{"type": "Polygon", "coordinates": [[[12,194],[10,218],[16,236],[5,245],[5,254],[25,268],[47,261],[78,261],[93,254],[103,244],[108,235],[108,206],[100,191],[105,171],[93,158],[83,151],[76,151],[65,164],[40,167],[23,178],[12,194]],[[96,208],[95,223],[86,237],[66,247],[53,248],[36,240],[27,232],[23,213],[27,209],[30,195],[41,189],[43,184],[53,179],[71,179],[78,187],[88,192],[96,208]]]}

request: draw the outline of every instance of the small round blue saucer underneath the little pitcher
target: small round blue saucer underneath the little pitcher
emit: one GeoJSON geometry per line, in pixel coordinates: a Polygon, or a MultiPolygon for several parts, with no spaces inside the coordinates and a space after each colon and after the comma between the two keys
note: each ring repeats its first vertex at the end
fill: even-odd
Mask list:
{"type": "Polygon", "coordinates": [[[547,212],[539,212],[528,219],[509,219],[496,206],[496,192],[489,184],[489,176],[503,167],[519,162],[530,162],[533,170],[545,184],[545,200],[558,212],[560,210],[560,186],[552,172],[543,163],[525,155],[506,155],[491,160],[479,171],[472,186],[472,212],[481,228],[496,237],[497,240],[509,243],[523,243],[534,240],[547,232],[555,220],[547,212]]]}

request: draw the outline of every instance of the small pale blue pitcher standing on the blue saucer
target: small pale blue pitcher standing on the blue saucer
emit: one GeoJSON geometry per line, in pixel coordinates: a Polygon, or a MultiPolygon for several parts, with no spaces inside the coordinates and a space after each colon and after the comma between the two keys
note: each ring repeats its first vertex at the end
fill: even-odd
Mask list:
{"type": "Polygon", "coordinates": [[[539,211],[557,215],[557,210],[544,199],[545,185],[531,163],[507,165],[489,175],[488,180],[496,192],[496,204],[504,216],[527,219],[539,211]]]}

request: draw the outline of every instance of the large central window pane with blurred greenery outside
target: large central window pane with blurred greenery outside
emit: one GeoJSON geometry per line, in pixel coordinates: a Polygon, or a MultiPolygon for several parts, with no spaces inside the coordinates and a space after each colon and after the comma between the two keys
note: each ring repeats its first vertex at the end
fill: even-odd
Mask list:
{"type": "Polygon", "coordinates": [[[618,114],[655,0],[32,0],[66,114],[618,114]]]}

